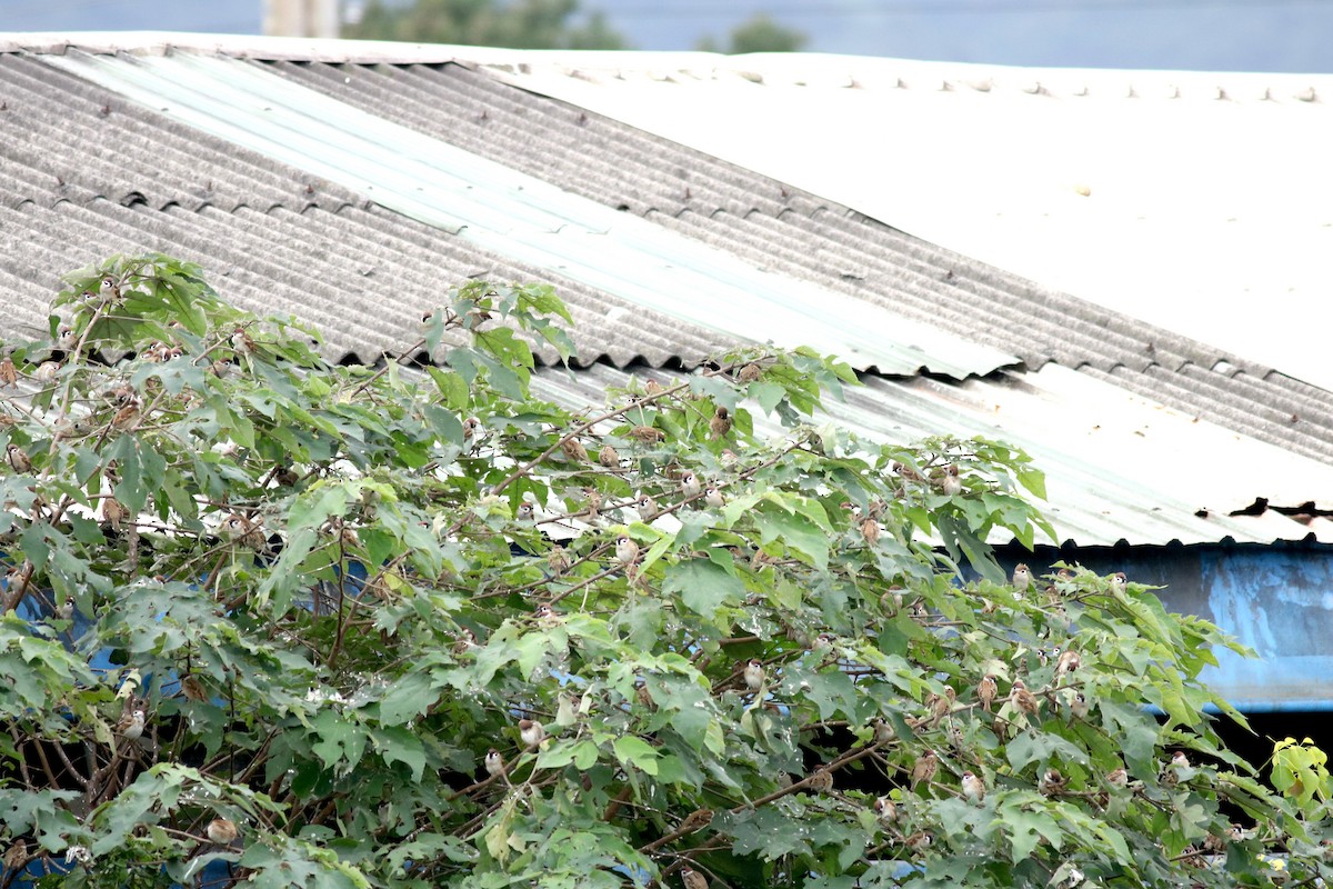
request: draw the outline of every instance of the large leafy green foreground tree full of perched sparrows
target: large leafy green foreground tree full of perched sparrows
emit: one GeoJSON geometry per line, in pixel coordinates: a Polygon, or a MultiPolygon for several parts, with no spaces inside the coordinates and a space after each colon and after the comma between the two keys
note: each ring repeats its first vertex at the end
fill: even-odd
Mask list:
{"type": "Polygon", "coordinates": [[[1221,633],[1005,577],[1041,473],[816,425],[836,359],[573,411],[531,389],[548,287],[468,283],[368,368],[167,257],[68,281],[0,363],[7,885],[1330,876],[1322,754],[1274,792],[1202,712],[1242,718],[1197,681],[1221,633]]]}

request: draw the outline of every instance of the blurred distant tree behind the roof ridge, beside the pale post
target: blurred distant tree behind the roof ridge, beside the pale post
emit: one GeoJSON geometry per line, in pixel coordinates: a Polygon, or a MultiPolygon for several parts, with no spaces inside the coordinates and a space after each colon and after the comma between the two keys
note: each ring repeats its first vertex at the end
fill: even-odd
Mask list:
{"type": "Polygon", "coordinates": [[[624,49],[625,41],[593,12],[576,25],[579,0],[371,0],[345,36],[367,40],[452,43],[517,49],[624,49]]]}

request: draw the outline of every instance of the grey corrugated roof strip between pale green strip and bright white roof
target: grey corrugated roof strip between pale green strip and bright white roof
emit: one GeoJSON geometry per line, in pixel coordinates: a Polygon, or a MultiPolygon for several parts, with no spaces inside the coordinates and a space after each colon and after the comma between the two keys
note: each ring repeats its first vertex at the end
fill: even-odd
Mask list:
{"type": "Polygon", "coordinates": [[[1333,462],[1333,393],[1041,288],[845,207],[460,65],[272,65],[315,89],[754,264],[1058,361],[1333,462]],[[532,132],[543,133],[533,144],[532,132]],[[1294,420],[1293,420],[1294,417],[1294,420]]]}

